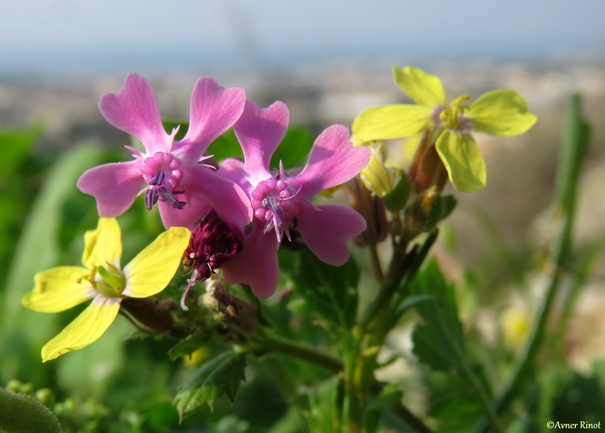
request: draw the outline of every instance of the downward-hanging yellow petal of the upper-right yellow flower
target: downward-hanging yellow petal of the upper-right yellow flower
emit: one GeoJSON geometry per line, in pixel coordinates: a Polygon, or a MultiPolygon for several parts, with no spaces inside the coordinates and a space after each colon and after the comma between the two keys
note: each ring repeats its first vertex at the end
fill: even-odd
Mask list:
{"type": "Polygon", "coordinates": [[[445,130],[437,139],[436,147],[457,190],[471,192],[485,186],[485,161],[470,134],[445,130]]]}

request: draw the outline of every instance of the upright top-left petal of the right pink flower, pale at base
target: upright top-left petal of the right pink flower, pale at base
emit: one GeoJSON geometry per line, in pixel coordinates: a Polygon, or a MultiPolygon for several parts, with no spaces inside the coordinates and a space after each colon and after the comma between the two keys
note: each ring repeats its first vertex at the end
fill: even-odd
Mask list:
{"type": "Polygon", "coordinates": [[[244,166],[253,184],[267,178],[271,156],[286,135],[289,119],[290,112],[283,102],[260,109],[254,102],[246,101],[244,114],[233,129],[244,151],[244,166]]]}

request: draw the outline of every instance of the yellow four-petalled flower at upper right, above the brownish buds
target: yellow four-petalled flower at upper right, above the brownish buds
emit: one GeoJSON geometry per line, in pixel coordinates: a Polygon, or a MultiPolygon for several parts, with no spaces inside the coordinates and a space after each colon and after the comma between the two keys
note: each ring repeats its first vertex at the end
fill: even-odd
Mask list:
{"type": "Polygon", "coordinates": [[[485,161],[471,131],[510,136],[527,131],[536,116],[512,90],[495,90],[467,104],[462,95],[448,104],[441,80],[420,69],[393,68],[397,86],[416,105],[393,104],[365,110],[353,122],[356,140],[411,137],[431,130],[437,152],[454,187],[470,192],[486,182],[485,161]]]}

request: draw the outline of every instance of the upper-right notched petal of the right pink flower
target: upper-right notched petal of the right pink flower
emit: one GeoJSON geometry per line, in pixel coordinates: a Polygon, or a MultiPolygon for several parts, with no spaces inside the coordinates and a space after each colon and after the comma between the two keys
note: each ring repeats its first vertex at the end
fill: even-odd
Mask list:
{"type": "Polygon", "coordinates": [[[324,189],[351,180],[369,160],[369,148],[354,147],[349,141],[349,130],[342,125],[332,125],[315,140],[303,171],[289,180],[302,185],[298,200],[310,200],[324,189]]]}

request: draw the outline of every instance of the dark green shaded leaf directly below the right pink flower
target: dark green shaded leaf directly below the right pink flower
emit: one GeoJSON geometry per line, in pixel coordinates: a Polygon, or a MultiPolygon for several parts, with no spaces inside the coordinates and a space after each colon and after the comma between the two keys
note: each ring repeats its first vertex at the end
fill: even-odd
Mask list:
{"type": "Polygon", "coordinates": [[[303,250],[294,272],[294,284],[309,314],[317,314],[333,326],[350,329],[357,315],[359,276],[359,268],[352,257],[337,267],[322,262],[311,251],[303,250]]]}

